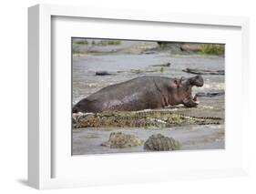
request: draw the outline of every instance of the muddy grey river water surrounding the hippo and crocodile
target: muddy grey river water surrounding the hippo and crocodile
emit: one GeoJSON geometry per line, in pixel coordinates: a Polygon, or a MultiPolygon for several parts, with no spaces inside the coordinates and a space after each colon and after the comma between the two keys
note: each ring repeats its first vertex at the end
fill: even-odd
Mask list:
{"type": "MultiPolygon", "coordinates": [[[[168,52],[152,54],[127,54],[122,52],[97,55],[73,56],[73,105],[80,99],[119,82],[142,76],[161,77],[194,77],[182,69],[201,68],[224,70],[223,56],[180,55],[173,56],[168,52]],[[154,66],[170,63],[169,67],[154,66]],[[139,70],[139,72],[138,72],[139,70]],[[108,71],[112,76],[96,76],[97,71],[108,71]]],[[[194,87],[197,92],[223,92],[224,76],[203,76],[204,86],[194,87]]],[[[124,88],[125,89],[125,88],[124,88]]],[[[182,150],[216,149],[225,147],[224,130],[224,95],[218,97],[199,97],[198,107],[173,107],[177,113],[200,117],[222,117],[220,125],[186,125],[164,129],[144,128],[74,128],[72,133],[73,155],[106,154],[145,151],[143,146],[133,148],[106,148],[100,146],[108,140],[113,131],[122,131],[136,135],[143,140],[155,133],[172,137],[181,143],[182,150]]]]}

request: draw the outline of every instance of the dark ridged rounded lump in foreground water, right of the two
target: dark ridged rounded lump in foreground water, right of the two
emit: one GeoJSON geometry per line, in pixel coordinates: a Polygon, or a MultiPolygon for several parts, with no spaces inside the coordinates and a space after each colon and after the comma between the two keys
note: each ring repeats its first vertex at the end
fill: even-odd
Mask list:
{"type": "Polygon", "coordinates": [[[180,148],[179,141],[174,138],[164,137],[161,134],[155,134],[148,138],[144,144],[144,149],[154,150],[154,151],[168,151],[176,150],[180,148]]]}

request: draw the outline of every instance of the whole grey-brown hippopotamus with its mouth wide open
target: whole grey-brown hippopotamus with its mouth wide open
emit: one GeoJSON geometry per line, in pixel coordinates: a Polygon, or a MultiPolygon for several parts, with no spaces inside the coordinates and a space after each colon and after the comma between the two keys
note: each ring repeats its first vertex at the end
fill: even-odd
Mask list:
{"type": "Polygon", "coordinates": [[[137,77],[122,83],[104,87],[81,99],[73,107],[73,113],[97,113],[103,111],[136,111],[156,109],[182,104],[196,107],[197,96],[192,87],[202,87],[203,78],[196,77],[137,77]]]}

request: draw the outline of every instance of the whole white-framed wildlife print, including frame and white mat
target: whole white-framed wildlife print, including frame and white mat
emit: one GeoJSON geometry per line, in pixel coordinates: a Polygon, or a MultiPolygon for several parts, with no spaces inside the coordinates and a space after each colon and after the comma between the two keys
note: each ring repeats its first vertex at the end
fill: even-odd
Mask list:
{"type": "Polygon", "coordinates": [[[29,185],[246,174],[248,18],[28,13],[29,185]]]}

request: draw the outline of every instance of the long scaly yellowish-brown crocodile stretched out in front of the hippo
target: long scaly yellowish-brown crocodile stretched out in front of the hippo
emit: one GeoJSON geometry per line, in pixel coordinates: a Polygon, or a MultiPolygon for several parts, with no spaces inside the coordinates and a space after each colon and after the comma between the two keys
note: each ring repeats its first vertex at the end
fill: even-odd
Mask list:
{"type": "Polygon", "coordinates": [[[169,110],[73,114],[73,128],[170,128],[189,124],[218,125],[220,121],[220,117],[195,117],[169,110]]]}

